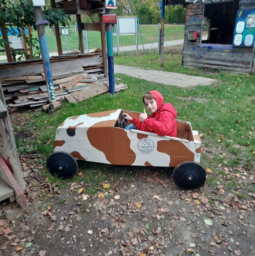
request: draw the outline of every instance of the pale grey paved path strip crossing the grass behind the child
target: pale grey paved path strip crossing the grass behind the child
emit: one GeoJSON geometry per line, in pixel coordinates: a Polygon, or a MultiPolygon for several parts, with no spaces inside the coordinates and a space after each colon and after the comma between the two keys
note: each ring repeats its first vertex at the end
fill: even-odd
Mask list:
{"type": "Polygon", "coordinates": [[[161,70],[146,70],[133,66],[114,65],[114,73],[122,73],[147,81],[158,82],[166,85],[176,85],[179,87],[194,87],[199,84],[211,85],[217,83],[216,79],[202,76],[194,76],[161,70]]]}

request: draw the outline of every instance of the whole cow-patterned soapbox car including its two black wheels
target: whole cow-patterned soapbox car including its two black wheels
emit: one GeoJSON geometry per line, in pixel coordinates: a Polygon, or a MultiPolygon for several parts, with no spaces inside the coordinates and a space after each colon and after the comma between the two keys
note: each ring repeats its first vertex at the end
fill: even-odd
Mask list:
{"type": "Polygon", "coordinates": [[[177,137],[125,129],[123,112],[139,118],[139,112],[115,109],[68,117],[57,127],[54,153],[47,159],[52,175],[74,176],[76,159],[139,166],[175,167],[173,180],[186,190],[205,184],[206,171],[199,164],[201,140],[191,123],[177,120],[177,137]]]}

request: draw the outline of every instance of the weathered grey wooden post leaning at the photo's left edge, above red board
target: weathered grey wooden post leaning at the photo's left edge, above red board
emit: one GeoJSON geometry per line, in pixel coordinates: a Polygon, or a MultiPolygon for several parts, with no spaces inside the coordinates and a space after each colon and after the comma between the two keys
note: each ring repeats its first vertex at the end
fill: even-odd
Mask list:
{"type": "MultiPolygon", "coordinates": [[[[0,100],[6,105],[2,87],[0,84],[0,100]]],[[[0,155],[11,170],[15,180],[20,186],[21,190],[25,190],[25,183],[22,175],[18,153],[16,149],[15,139],[12,133],[9,115],[0,119],[0,155]]]]}

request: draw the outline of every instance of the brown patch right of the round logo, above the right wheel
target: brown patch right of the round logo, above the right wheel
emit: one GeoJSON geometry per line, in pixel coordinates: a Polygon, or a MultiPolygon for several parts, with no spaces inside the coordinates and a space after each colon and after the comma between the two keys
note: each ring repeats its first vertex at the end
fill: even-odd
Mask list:
{"type": "Polygon", "coordinates": [[[169,166],[171,167],[184,161],[194,161],[195,157],[195,154],[178,140],[160,140],[157,150],[170,156],[169,166]]]}

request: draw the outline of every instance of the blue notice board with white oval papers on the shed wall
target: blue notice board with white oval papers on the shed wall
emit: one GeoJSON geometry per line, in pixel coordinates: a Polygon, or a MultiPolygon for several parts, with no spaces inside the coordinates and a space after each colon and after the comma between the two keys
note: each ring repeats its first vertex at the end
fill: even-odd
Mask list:
{"type": "Polygon", "coordinates": [[[255,9],[237,11],[233,46],[254,47],[255,9]]]}

